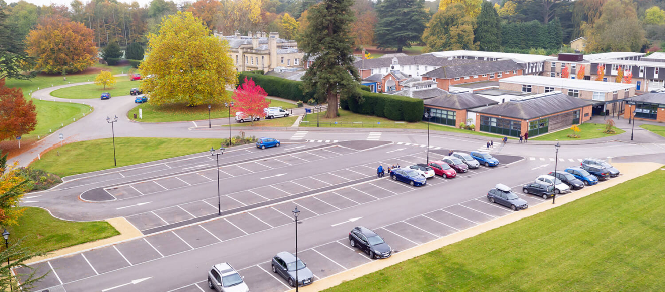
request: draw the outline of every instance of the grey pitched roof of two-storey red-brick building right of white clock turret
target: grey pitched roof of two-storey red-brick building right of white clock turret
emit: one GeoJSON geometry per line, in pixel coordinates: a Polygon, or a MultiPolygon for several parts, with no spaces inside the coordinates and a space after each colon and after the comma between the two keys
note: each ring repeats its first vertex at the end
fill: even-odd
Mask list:
{"type": "Polygon", "coordinates": [[[513,60],[480,61],[476,63],[441,67],[439,69],[422,74],[422,76],[432,78],[458,78],[504,71],[517,71],[522,69],[524,69],[523,65],[519,65],[513,60]]]}

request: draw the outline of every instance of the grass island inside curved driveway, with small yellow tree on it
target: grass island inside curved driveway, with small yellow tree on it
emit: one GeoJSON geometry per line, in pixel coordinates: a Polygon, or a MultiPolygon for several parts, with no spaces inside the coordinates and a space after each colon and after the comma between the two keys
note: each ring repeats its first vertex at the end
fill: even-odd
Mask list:
{"type": "Polygon", "coordinates": [[[114,96],[129,95],[129,90],[138,87],[141,84],[140,80],[130,81],[128,78],[116,77],[116,84],[113,87],[99,86],[95,84],[83,84],[78,86],[71,86],[60,88],[51,92],[51,95],[60,98],[99,98],[102,92],[109,92],[111,98],[114,96]]]}

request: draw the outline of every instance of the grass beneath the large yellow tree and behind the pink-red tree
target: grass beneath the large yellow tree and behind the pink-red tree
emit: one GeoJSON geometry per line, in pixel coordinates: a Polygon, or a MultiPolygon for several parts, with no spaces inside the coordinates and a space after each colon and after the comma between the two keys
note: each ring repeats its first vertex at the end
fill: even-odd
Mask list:
{"type": "MultiPolygon", "coordinates": [[[[233,92],[228,91],[229,94],[233,92]]],[[[282,108],[295,108],[295,104],[283,102],[281,100],[268,99],[270,106],[281,106],[282,108]]],[[[213,105],[210,110],[211,118],[228,118],[229,109],[224,104],[213,105]]],[[[231,108],[231,116],[235,116],[235,110],[231,108]]],[[[127,113],[127,117],[139,122],[180,122],[190,120],[207,120],[208,110],[207,105],[201,104],[199,106],[187,106],[186,104],[164,104],[156,106],[150,104],[150,101],[140,104],[132,108],[127,113]],[[143,118],[138,118],[138,109],[141,108],[143,118]],[[136,114],[136,119],[134,119],[136,114]]]]}

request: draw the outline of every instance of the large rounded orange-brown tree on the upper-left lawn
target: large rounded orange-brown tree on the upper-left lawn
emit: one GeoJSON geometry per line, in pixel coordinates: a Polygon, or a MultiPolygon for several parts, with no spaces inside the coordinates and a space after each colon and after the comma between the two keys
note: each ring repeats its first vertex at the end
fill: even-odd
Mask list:
{"type": "Polygon", "coordinates": [[[96,63],[92,30],[59,15],[47,17],[30,31],[28,52],[37,57],[35,69],[46,73],[72,73],[96,63]]]}

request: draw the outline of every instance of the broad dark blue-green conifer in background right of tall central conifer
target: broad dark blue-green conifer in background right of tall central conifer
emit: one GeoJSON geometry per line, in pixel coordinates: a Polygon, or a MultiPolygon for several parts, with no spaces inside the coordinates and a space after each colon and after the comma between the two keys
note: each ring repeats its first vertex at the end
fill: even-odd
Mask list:
{"type": "Polygon", "coordinates": [[[374,27],[378,49],[397,49],[397,53],[402,53],[402,48],[420,41],[428,19],[423,1],[384,0],[376,6],[377,15],[381,15],[374,27]]]}

